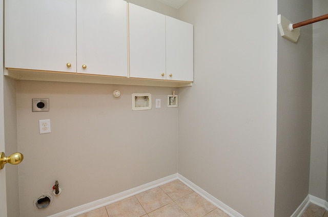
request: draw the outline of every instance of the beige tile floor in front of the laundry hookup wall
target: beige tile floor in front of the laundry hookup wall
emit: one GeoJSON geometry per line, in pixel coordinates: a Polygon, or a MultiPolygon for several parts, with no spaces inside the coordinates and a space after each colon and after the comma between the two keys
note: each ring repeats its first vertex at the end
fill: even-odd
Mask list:
{"type": "Polygon", "coordinates": [[[199,194],[195,193],[179,180],[172,181],[165,185],[136,194],[130,198],[78,215],[78,217],[173,216],[229,217],[228,214],[200,197],[199,194]]]}

